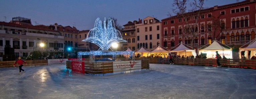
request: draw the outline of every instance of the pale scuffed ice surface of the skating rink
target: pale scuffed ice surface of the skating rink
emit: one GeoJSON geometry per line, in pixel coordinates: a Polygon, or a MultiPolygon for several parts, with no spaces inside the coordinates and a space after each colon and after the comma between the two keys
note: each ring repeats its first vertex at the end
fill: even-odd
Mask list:
{"type": "Polygon", "coordinates": [[[65,65],[0,68],[0,99],[256,99],[256,70],[150,64],[93,76],[65,65]]]}

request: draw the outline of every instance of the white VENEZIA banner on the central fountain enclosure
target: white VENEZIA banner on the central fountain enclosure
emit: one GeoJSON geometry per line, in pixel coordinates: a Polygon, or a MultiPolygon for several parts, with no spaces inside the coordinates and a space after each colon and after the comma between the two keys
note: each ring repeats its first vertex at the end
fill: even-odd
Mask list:
{"type": "Polygon", "coordinates": [[[129,73],[134,71],[141,71],[141,60],[113,62],[114,73],[129,73]]]}

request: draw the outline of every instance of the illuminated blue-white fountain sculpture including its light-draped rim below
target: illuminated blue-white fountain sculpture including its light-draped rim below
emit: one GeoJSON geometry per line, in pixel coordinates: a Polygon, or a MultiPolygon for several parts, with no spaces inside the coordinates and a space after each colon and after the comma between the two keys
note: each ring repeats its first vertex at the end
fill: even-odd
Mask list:
{"type": "Polygon", "coordinates": [[[80,60],[82,59],[82,55],[90,55],[90,61],[92,62],[94,62],[95,55],[113,55],[113,58],[115,55],[134,55],[134,51],[113,51],[110,48],[114,43],[127,42],[123,40],[121,33],[115,28],[114,21],[110,18],[107,24],[105,18],[103,25],[100,18],[97,18],[94,28],[89,31],[87,38],[82,41],[94,43],[98,45],[100,49],[98,51],[78,52],[78,58],[80,60]],[[108,51],[109,49],[112,51],[108,51]]]}

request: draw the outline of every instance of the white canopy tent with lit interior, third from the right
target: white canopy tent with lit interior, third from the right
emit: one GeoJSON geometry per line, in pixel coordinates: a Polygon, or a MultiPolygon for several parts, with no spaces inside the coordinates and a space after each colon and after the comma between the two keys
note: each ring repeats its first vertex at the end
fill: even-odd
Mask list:
{"type": "MultiPolygon", "coordinates": [[[[184,55],[184,56],[197,56],[196,50],[194,49],[189,49],[187,47],[185,47],[184,43],[179,43],[177,48],[175,48],[176,46],[174,46],[173,48],[175,48],[174,50],[171,50],[170,52],[176,52],[177,55],[184,55]],[[179,46],[178,46],[179,45],[179,46]]],[[[192,47],[191,47],[192,48],[192,47]]]]}

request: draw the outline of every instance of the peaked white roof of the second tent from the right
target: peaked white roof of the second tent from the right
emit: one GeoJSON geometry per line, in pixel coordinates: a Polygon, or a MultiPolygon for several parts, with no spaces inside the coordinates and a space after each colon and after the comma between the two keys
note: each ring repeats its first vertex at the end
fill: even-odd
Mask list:
{"type": "Polygon", "coordinates": [[[217,41],[213,41],[213,43],[210,46],[201,50],[231,50],[231,48],[225,48],[222,45],[220,45],[217,41]]]}

